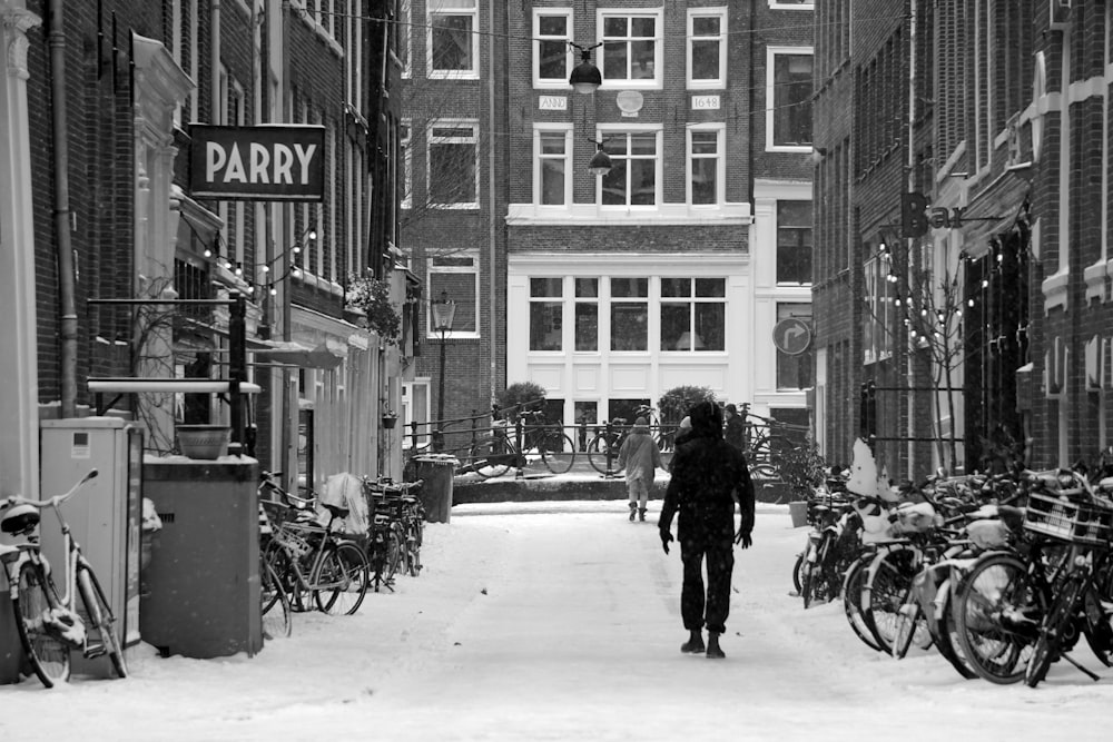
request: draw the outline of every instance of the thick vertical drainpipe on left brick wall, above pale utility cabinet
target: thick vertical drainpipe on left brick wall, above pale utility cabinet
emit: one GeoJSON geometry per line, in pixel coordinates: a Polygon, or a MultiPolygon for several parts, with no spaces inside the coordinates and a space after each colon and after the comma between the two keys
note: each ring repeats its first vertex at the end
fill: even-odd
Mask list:
{"type": "Polygon", "coordinates": [[[55,231],[58,236],[58,303],[61,314],[61,416],[77,416],[77,298],[70,241],[69,147],[66,120],[66,30],[62,0],[50,0],[50,93],[55,148],[55,231]]]}

